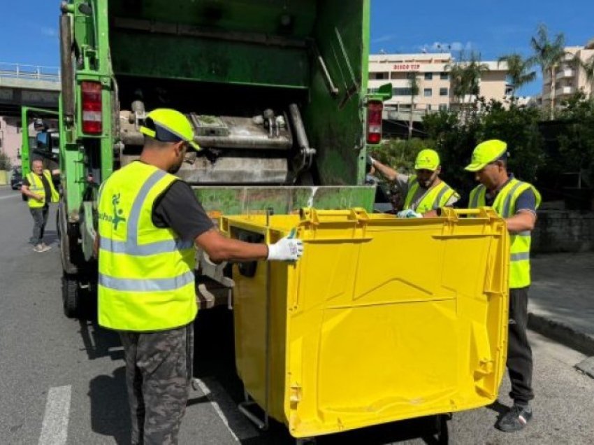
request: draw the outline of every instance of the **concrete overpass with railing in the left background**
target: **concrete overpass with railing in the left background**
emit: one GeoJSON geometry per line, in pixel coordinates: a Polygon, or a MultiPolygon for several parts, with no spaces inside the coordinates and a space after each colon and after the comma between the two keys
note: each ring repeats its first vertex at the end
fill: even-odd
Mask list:
{"type": "Polygon", "coordinates": [[[19,116],[22,105],[58,108],[59,69],[0,62],[0,115],[19,116]]]}

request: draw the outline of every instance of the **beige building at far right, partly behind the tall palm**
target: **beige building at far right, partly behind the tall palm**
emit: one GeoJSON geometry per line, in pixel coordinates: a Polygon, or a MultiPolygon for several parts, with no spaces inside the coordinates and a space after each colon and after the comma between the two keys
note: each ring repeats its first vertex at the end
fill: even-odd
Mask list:
{"type": "Polygon", "coordinates": [[[572,94],[583,91],[588,97],[593,96],[594,78],[588,79],[586,71],[581,67],[579,61],[588,63],[594,57],[594,39],[586,46],[568,46],[565,48],[563,61],[556,66],[554,75],[554,90],[551,88],[551,73],[543,73],[542,94],[539,97],[539,104],[548,109],[551,106],[551,99],[554,97],[556,108],[559,108],[564,99],[572,94]],[[552,93],[552,94],[551,94],[552,93]]]}

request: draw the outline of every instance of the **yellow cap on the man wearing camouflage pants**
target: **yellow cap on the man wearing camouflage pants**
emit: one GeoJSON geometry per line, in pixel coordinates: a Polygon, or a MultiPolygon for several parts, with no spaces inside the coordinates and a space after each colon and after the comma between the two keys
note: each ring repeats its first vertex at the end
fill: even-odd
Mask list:
{"type": "Polygon", "coordinates": [[[140,133],[161,142],[185,141],[194,150],[200,150],[200,146],[194,142],[194,128],[191,122],[179,111],[169,108],[157,108],[148,113],[145,125],[140,127],[140,133]]]}

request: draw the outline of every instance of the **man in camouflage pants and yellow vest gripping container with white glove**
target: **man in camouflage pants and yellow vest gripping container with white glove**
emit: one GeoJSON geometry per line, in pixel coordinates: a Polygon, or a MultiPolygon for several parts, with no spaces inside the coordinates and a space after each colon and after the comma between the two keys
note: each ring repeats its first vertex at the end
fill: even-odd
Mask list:
{"type": "MultiPolygon", "coordinates": [[[[99,190],[99,325],[119,332],[133,444],[177,444],[187,402],[196,317],[195,245],[212,262],[296,261],[303,242],[245,243],[219,234],[187,183],[173,176],[194,129],[157,109],[140,132],[140,160],[99,190]]],[[[198,439],[198,442],[200,440],[198,439]]]]}

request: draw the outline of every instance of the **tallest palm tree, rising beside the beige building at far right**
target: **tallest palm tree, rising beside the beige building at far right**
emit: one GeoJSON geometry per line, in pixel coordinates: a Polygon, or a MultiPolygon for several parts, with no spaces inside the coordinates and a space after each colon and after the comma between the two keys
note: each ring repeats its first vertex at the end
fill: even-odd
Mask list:
{"type": "Polygon", "coordinates": [[[549,30],[546,25],[539,24],[536,36],[530,38],[530,46],[532,46],[534,55],[530,57],[530,62],[540,66],[542,70],[542,77],[546,74],[551,76],[551,120],[555,118],[555,70],[563,61],[563,57],[567,54],[565,51],[565,35],[559,33],[555,36],[553,41],[549,38],[549,30]]]}

